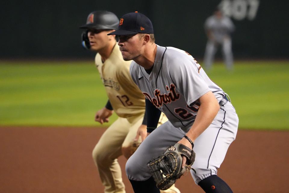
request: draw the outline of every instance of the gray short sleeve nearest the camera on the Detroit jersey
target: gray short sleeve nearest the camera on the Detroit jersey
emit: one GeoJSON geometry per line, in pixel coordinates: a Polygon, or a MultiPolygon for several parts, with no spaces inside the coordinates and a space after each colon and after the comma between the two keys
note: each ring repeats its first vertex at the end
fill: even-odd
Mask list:
{"type": "Polygon", "coordinates": [[[176,88],[185,97],[190,106],[194,101],[210,91],[209,86],[200,75],[200,65],[191,55],[183,54],[174,57],[173,65],[169,65],[169,74],[176,88]]]}

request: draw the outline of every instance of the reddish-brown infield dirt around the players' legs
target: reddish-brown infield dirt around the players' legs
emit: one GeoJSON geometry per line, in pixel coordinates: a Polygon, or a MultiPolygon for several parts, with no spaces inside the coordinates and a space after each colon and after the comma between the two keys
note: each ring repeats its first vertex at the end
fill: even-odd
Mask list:
{"type": "MultiPolygon", "coordinates": [[[[103,192],[91,154],[104,131],[96,127],[0,127],[0,192],[103,192]]],[[[239,130],[218,175],[235,193],[289,192],[288,139],[289,131],[239,130]]],[[[132,193],[125,162],[121,156],[123,181],[127,193],[132,193]]],[[[203,192],[190,174],[182,176],[176,186],[182,193],[203,192]]]]}

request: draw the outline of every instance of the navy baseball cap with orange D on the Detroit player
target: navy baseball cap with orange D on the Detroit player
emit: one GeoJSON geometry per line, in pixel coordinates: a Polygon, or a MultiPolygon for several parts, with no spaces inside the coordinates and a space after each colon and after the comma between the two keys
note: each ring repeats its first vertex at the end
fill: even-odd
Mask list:
{"type": "Polygon", "coordinates": [[[131,35],[137,33],[154,33],[153,24],[151,20],[144,14],[127,13],[120,18],[118,30],[107,35],[131,35]]]}

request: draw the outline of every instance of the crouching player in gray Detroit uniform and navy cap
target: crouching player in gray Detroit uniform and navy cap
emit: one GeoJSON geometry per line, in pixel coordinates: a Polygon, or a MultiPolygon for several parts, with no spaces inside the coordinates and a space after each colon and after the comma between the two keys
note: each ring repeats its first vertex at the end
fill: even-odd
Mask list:
{"type": "MultiPolygon", "coordinates": [[[[134,191],[160,192],[146,164],[179,143],[194,147],[196,173],[191,175],[197,185],[205,192],[232,192],[217,176],[238,128],[238,116],[225,92],[190,54],[156,45],[152,23],[145,15],[123,15],[111,34],[119,35],[123,59],[133,60],[132,80],[146,96],[147,138],[126,163],[134,191]],[[160,111],[169,121],[154,130],[160,111]]],[[[182,167],[185,161],[183,157],[182,167]]]]}

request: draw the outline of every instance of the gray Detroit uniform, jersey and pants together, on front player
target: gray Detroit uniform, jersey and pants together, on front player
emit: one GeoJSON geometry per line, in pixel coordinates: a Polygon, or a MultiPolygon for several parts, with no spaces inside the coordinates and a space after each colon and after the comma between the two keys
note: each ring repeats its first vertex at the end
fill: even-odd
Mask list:
{"type": "Polygon", "coordinates": [[[238,129],[235,108],[228,101],[222,103],[224,91],[208,78],[191,55],[172,47],[157,46],[150,74],[135,62],[130,66],[130,74],[144,95],[166,114],[169,121],[151,132],[129,158],[126,163],[128,178],[144,181],[151,177],[146,167],[148,161],[184,137],[197,115],[198,98],[210,90],[220,101],[220,109],[213,122],[194,141],[196,159],[192,168],[197,173],[191,170],[191,175],[196,184],[216,175],[238,129]]]}

